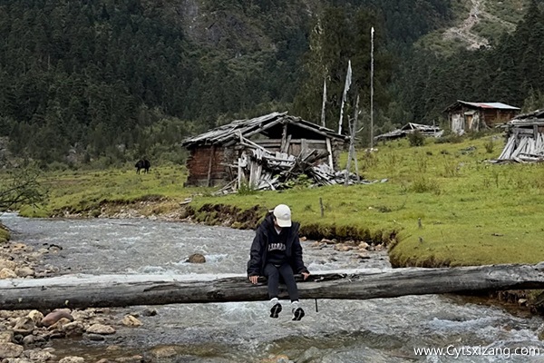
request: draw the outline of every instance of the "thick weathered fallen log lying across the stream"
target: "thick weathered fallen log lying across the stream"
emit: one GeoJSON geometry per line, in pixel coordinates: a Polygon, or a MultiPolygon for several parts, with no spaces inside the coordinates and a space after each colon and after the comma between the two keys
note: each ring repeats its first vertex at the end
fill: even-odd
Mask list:
{"type": "MultiPolygon", "coordinates": [[[[297,277],[301,299],[377,299],[477,290],[544,289],[544,262],[441,269],[335,270],[297,277]]],[[[287,291],[280,286],[280,298],[287,291]]],[[[241,274],[63,275],[0,280],[0,309],[103,308],[267,300],[241,274]]]]}

